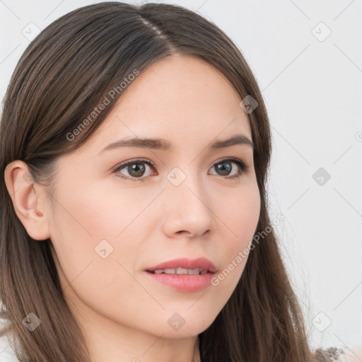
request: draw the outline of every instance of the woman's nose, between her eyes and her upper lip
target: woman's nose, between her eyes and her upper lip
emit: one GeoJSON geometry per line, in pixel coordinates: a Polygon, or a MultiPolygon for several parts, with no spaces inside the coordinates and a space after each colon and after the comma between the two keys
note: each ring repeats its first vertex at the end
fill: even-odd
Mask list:
{"type": "Polygon", "coordinates": [[[163,232],[170,238],[197,238],[214,228],[211,198],[197,178],[187,175],[180,185],[170,182],[166,187],[163,232]]]}

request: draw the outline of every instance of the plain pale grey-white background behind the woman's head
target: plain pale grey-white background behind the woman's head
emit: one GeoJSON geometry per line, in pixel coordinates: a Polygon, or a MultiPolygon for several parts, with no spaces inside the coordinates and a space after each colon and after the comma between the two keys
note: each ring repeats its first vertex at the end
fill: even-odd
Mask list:
{"type": "MultiPolygon", "coordinates": [[[[95,2],[99,1],[0,1],[1,100],[36,29],[95,2]]],[[[276,233],[310,341],[313,346],[341,346],[358,353],[362,347],[362,1],[153,2],[199,11],[243,52],[269,111],[270,216],[276,218],[281,212],[286,217],[276,233]]]]}

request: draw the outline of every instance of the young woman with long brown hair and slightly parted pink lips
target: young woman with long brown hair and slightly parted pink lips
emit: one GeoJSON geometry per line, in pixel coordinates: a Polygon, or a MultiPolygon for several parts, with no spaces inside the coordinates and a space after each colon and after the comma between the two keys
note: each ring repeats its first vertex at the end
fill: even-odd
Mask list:
{"type": "Polygon", "coordinates": [[[267,211],[267,112],[216,25],[166,4],[66,14],[21,57],[0,137],[19,360],[338,355],[308,346],[267,211]]]}

